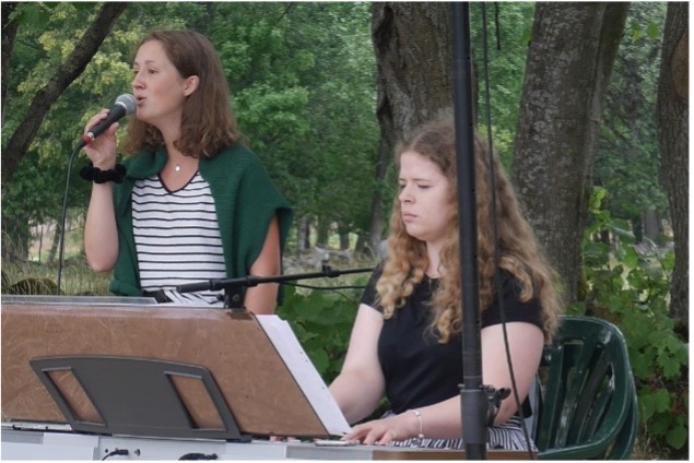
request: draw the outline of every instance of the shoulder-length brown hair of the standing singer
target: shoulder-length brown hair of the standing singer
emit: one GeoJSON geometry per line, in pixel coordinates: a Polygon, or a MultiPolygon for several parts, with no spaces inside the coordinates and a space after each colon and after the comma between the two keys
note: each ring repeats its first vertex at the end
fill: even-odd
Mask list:
{"type": "MultiPolygon", "coordinates": [[[[180,139],[174,145],[192,157],[212,157],[234,145],[240,134],[222,61],[210,40],[193,31],[154,31],[140,41],[138,49],[151,40],[164,46],[183,79],[197,75],[200,80],[198,88],[184,103],[180,139]]],[[[130,121],[126,152],[153,152],[163,146],[164,138],[157,128],[137,118],[130,121]]]]}

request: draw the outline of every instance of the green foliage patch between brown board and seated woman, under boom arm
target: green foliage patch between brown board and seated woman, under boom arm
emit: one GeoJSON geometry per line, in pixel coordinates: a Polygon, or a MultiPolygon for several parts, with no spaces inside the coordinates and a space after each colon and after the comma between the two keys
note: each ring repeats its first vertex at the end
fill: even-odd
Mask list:
{"type": "Polygon", "coordinates": [[[285,299],[278,314],[289,321],[328,384],[342,368],[361,293],[361,289],[306,293],[294,286],[285,287],[285,299]]]}

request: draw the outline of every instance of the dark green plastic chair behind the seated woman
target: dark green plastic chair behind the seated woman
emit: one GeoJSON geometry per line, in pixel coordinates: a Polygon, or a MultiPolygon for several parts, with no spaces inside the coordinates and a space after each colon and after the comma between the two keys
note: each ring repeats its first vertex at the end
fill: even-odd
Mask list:
{"type": "Polygon", "coordinates": [[[563,317],[540,367],[534,441],[540,460],[626,460],[638,406],[626,342],[590,317],[563,317]]]}

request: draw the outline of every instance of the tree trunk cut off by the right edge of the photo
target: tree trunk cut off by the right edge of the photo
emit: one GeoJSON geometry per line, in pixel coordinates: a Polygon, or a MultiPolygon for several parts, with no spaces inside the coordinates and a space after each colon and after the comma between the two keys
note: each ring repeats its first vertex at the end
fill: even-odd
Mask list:
{"type": "Polygon", "coordinates": [[[670,202],[674,235],[674,271],[670,313],[689,331],[689,4],[668,3],[657,118],[660,171],[670,202]]]}

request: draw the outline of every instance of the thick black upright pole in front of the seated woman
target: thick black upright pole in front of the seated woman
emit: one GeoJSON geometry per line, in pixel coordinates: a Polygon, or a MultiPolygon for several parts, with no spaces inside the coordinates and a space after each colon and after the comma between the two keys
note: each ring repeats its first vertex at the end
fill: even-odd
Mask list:
{"type": "Polygon", "coordinates": [[[482,388],[470,5],[452,3],[454,115],[458,167],[458,223],[462,287],[462,440],[468,460],[486,459],[490,400],[482,388]]]}

